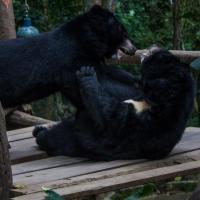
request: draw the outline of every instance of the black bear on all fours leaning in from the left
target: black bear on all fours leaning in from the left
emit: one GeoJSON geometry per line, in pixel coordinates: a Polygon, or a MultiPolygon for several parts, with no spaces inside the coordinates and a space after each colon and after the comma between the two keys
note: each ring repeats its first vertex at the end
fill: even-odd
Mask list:
{"type": "Polygon", "coordinates": [[[118,94],[117,82],[119,88],[131,92],[129,85],[134,85],[134,78],[104,65],[105,58],[118,49],[128,54],[136,51],[124,27],[100,6],[54,31],[0,41],[0,100],[4,107],[9,107],[61,90],[80,107],[75,72],[81,65],[94,65],[108,92],[118,94]],[[113,82],[116,87],[111,87],[113,82]]]}

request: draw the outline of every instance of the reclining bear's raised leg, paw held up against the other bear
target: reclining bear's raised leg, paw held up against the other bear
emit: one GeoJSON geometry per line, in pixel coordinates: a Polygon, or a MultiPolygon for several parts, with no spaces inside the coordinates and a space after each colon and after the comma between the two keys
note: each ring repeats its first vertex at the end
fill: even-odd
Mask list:
{"type": "Polygon", "coordinates": [[[109,96],[98,82],[96,72],[92,67],[82,67],[76,73],[80,86],[83,104],[92,120],[100,129],[105,129],[110,122],[112,112],[118,101],[109,96]]]}

